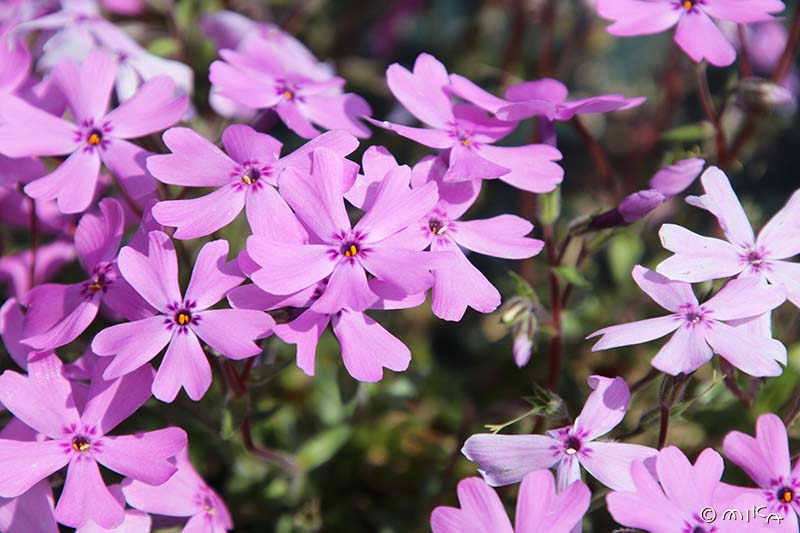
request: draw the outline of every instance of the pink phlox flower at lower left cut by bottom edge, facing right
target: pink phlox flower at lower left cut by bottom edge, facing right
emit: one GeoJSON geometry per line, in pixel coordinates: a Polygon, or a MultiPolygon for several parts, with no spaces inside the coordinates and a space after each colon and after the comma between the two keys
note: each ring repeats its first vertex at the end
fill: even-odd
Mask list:
{"type": "Polygon", "coordinates": [[[224,533],[233,529],[233,521],[225,503],[197,473],[189,460],[189,450],[175,457],[178,471],[158,486],[135,479],[122,482],[122,492],[128,504],[147,513],[189,517],[183,531],[194,533],[224,533]]]}

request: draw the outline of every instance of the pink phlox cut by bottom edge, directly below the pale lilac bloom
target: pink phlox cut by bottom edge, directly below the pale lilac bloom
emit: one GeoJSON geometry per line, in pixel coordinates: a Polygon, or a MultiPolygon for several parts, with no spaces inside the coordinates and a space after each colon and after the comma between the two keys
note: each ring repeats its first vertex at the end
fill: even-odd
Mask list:
{"type": "Polygon", "coordinates": [[[482,479],[458,483],[461,508],[439,506],[431,513],[433,533],[570,533],[580,528],[589,509],[591,493],[581,481],[556,492],[553,474],[531,472],[522,480],[517,496],[514,527],[503,502],[482,479]]]}

